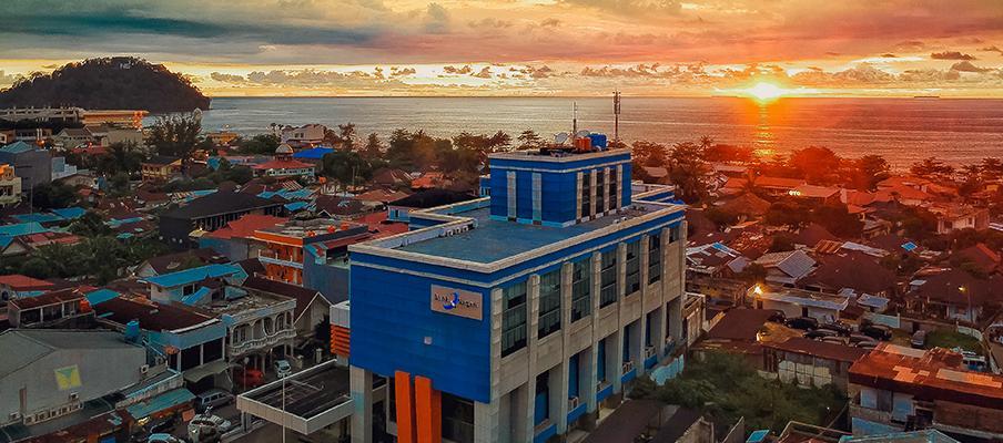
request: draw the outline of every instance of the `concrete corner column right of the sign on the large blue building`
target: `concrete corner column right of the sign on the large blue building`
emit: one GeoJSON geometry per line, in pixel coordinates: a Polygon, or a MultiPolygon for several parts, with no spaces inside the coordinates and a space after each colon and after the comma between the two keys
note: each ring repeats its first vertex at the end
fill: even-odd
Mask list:
{"type": "Polygon", "coordinates": [[[504,312],[504,295],[502,288],[495,288],[490,295],[492,306],[492,402],[489,404],[474,402],[474,442],[508,443],[508,432],[502,432],[502,313],[504,312]]]}

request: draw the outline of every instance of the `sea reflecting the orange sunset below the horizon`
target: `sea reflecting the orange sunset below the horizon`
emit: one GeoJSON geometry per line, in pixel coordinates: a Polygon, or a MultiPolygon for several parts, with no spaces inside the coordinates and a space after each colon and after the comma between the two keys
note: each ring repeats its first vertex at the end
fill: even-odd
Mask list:
{"type": "MultiPolygon", "coordinates": [[[[270,125],[354,123],[361,136],[395,128],[450,137],[525,130],[545,137],[578,128],[614,135],[611,97],[215,97],[204,131],[251,135],[270,125]],[[577,107],[577,112],[574,111],[577,107]]],[[[908,168],[929,156],[953,165],[1003,157],[1003,100],[622,97],[619,136],[665,144],[710,136],[760,155],[824,146],[843,157],[884,156],[908,168]]]]}

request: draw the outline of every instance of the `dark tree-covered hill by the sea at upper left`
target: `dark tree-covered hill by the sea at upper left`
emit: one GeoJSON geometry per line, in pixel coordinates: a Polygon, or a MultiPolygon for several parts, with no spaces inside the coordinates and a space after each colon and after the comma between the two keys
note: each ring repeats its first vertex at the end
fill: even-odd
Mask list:
{"type": "Polygon", "coordinates": [[[133,56],[69,63],[0,91],[0,107],[79,106],[160,113],[207,110],[210,101],[183,75],[133,56]]]}

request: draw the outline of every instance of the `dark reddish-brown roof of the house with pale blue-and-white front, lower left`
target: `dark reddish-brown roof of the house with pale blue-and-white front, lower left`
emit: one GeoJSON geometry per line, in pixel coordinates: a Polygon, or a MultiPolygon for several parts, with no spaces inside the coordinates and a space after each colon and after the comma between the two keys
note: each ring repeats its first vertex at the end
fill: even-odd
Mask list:
{"type": "Polygon", "coordinates": [[[112,298],[94,306],[94,312],[122,326],[136,320],[141,329],[150,331],[176,331],[215,320],[191,309],[143,298],[112,298]]]}

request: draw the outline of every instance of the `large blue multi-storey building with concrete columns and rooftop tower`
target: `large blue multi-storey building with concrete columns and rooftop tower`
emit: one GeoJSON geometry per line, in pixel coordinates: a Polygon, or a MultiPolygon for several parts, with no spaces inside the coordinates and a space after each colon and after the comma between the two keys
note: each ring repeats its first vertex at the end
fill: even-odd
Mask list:
{"type": "Polygon", "coordinates": [[[670,363],[683,207],[630,166],[628,150],[493,154],[488,197],[349,246],[353,442],[381,412],[402,443],[559,439],[670,363]]]}

